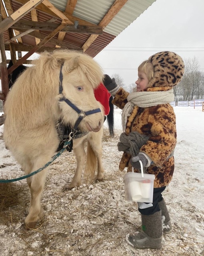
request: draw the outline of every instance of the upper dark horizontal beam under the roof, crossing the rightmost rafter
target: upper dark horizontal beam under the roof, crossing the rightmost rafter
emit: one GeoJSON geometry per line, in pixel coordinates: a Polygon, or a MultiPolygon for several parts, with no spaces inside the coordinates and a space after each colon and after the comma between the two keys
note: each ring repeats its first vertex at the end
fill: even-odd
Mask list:
{"type": "MultiPolygon", "coordinates": [[[[37,22],[30,20],[19,20],[14,25],[11,26],[13,29],[32,29],[32,30],[44,30],[44,31],[52,31],[59,26],[58,23],[48,23],[48,22],[37,22]]],[[[64,32],[69,33],[84,33],[84,34],[95,34],[102,35],[103,30],[100,26],[81,26],[78,25],[75,28],[74,25],[67,25],[62,29],[64,32]]]]}

